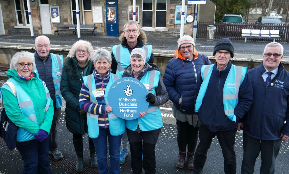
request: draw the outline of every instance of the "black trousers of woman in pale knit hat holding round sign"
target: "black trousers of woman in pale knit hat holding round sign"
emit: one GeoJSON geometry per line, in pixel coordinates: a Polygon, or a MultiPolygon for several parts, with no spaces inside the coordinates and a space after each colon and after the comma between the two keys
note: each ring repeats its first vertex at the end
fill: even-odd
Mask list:
{"type": "Polygon", "coordinates": [[[156,173],[155,144],[161,129],[136,132],[127,129],[127,136],[131,151],[131,169],[133,174],[142,173],[142,155],[145,174],[156,173]]]}

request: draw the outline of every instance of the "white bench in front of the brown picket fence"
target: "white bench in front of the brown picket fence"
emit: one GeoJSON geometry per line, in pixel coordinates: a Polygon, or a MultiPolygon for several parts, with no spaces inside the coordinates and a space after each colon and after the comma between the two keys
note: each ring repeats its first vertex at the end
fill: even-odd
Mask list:
{"type": "Polygon", "coordinates": [[[280,36],[279,30],[242,29],[242,38],[245,38],[245,43],[247,38],[273,38],[273,42],[275,42],[276,38],[280,38],[280,36]]]}

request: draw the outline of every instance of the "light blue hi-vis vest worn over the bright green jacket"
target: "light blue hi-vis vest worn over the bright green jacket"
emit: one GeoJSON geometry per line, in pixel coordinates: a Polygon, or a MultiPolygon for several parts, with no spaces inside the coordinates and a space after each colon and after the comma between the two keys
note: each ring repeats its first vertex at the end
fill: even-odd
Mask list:
{"type": "MultiPolygon", "coordinates": [[[[37,77],[37,80],[40,80],[40,82],[43,84],[40,78],[37,77]]],[[[15,86],[16,97],[17,97],[18,105],[22,114],[26,116],[29,120],[33,121],[35,124],[39,125],[36,119],[34,105],[29,95],[27,95],[25,90],[23,90],[23,88],[21,88],[21,86],[14,79],[10,78],[7,80],[7,82],[12,82],[15,86]]],[[[7,89],[11,91],[12,93],[14,93],[12,89],[6,84],[4,84],[1,88],[7,89]]],[[[51,98],[49,95],[49,90],[47,89],[46,86],[44,86],[44,89],[45,89],[45,94],[46,94],[46,106],[44,109],[44,116],[45,116],[47,110],[49,109],[51,98]]],[[[17,131],[17,141],[29,141],[32,139],[35,139],[34,135],[26,131],[25,129],[19,127],[17,131]]]]}

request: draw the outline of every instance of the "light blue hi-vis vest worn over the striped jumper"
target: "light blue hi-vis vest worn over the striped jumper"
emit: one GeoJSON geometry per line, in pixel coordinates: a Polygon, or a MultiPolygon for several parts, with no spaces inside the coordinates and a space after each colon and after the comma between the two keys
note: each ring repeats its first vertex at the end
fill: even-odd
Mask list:
{"type": "MultiPolygon", "coordinates": [[[[108,105],[107,101],[107,95],[108,95],[108,89],[114,81],[118,80],[118,76],[115,74],[110,73],[110,79],[108,81],[108,84],[105,88],[105,103],[108,105]]],[[[90,74],[88,76],[83,77],[83,83],[89,90],[89,97],[90,102],[97,103],[96,98],[92,94],[92,91],[94,91],[95,88],[95,78],[93,74],[90,74]]],[[[112,109],[113,110],[113,109],[112,109]]],[[[87,127],[88,127],[88,136],[90,138],[97,138],[99,135],[99,127],[98,127],[98,115],[91,114],[89,112],[86,113],[87,118],[87,127]]],[[[118,136],[125,132],[125,120],[119,118],[116,116],[113,112],[108,113],[108,123],[109,123],[109,130],[110,134],[112,136],[118,136]]]]}

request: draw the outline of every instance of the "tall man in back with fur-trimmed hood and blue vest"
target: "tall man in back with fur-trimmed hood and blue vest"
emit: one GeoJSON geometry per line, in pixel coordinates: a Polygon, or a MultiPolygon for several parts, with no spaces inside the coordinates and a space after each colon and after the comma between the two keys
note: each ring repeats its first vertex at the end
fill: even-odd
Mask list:
{"type": "MultiPolygon", "coordinates": [[[[150,65],[153,64],[153,51],[152,46],[145,44],[147,36],[143,31],[140,31],[138,24],[135,21],[127,21],[123,26],[123,34],[119,37],[121,44],[112,46],[112,65],[111,72],[119,75],[130,65],[130,53],[134,48],[142,48],[146,51],[146,62],[150,65]]],[[[125,162],[128,155],[128,139],[127,132],[123,134],[121,139],[122,150],[120,152],[120,163],[125,162]]]]}

